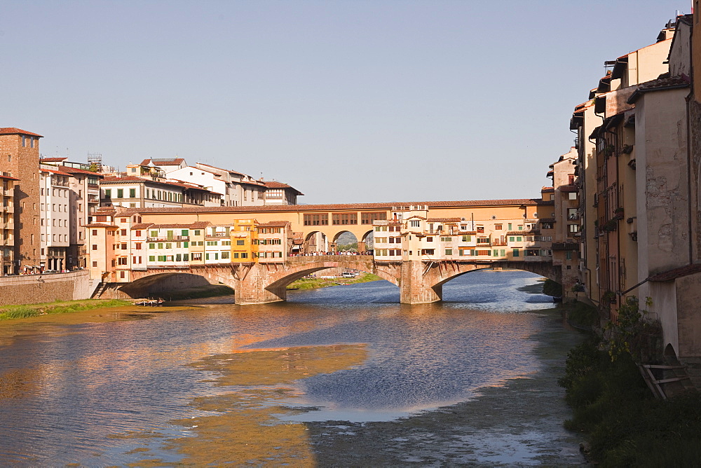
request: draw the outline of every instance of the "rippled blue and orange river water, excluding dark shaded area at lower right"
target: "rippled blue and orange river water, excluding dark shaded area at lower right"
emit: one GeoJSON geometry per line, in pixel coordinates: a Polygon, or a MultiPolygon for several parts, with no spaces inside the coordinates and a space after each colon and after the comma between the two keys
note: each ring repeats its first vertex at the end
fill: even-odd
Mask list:
{"type": "Polygon", "coordinates": [[[392,421],[538,373],[552,302],[519,290],[535,282],[470,273],[426,305],[372,282],[0,324],[0,463],[314,464],[311,422],[392,421]]]}

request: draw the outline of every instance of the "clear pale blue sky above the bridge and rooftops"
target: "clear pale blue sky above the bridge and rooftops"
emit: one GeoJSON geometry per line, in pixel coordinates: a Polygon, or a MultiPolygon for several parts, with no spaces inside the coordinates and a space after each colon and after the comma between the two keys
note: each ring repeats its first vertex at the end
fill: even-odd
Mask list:
{"type": "Polygon", "coordinates": [[[690,0],[31,1],[0,127],[120,167],[180,156],[304,203],[539,196],[604,60],[690,0]]]}

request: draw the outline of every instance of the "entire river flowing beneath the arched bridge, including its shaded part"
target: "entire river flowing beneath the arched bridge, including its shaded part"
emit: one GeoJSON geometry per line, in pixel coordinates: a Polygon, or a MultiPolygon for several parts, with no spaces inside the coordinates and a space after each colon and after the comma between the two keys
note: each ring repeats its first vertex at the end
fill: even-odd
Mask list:
{"type": "Polygon", "coordinates": [[[0,464],[582,464],[556,383],[580,336],[534,283],[2,323],[0,464]]]}

